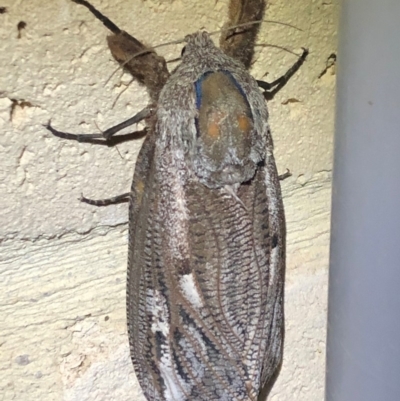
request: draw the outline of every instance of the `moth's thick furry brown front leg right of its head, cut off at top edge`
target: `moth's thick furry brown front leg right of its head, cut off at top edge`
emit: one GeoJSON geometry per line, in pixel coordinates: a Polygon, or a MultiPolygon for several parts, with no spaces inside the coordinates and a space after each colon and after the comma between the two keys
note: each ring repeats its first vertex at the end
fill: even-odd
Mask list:
{"type": "Polygon", "coordinates": [[[246,68],[251,65],[260,24],[232,27],[261,21],[265,3],[265,0],[231,0],[229,2],[228,22],[221,34],[219,46],[226,54],[241,61],[246,68]]]}

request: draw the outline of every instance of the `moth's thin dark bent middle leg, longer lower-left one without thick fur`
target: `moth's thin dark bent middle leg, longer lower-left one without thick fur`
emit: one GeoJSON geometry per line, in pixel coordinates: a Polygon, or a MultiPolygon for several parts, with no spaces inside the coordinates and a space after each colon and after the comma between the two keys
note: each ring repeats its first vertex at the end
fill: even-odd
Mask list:
{"type": "Polygon", "coordinates": [[[136,131],[131,134],[126,134],[126,135],[120,135],[117,137],[114,137],[114,135],[118,132],[121,131],[122,129],[129,127],[133,124],[137,124],[140,121],[148,118],[151,116],[153,110],[151,107],[146,107],[139,113],[135,114],[133,117],[128,118],[126,121],[123,121],[122,123],[119,123],[117,125],[114,125],[111,128],[106,129],[104,132],[97,133],[97,134],[71,134],[69,132],[62,132],[58,131],[55,128],[53,128],[50,124],[50,122],[45,125],[45,127],[55,136],[63,139],[71,139],[73,141],[78,141],[78,142],[88,142],[88,143],[93,143],[97,145],[107,145],[107,146],[114,146],[117,143],[125,142],[131,139],[137,139],[140,138],[144,135],[146,135],[147,128],[141,131],[136,131]]]}

